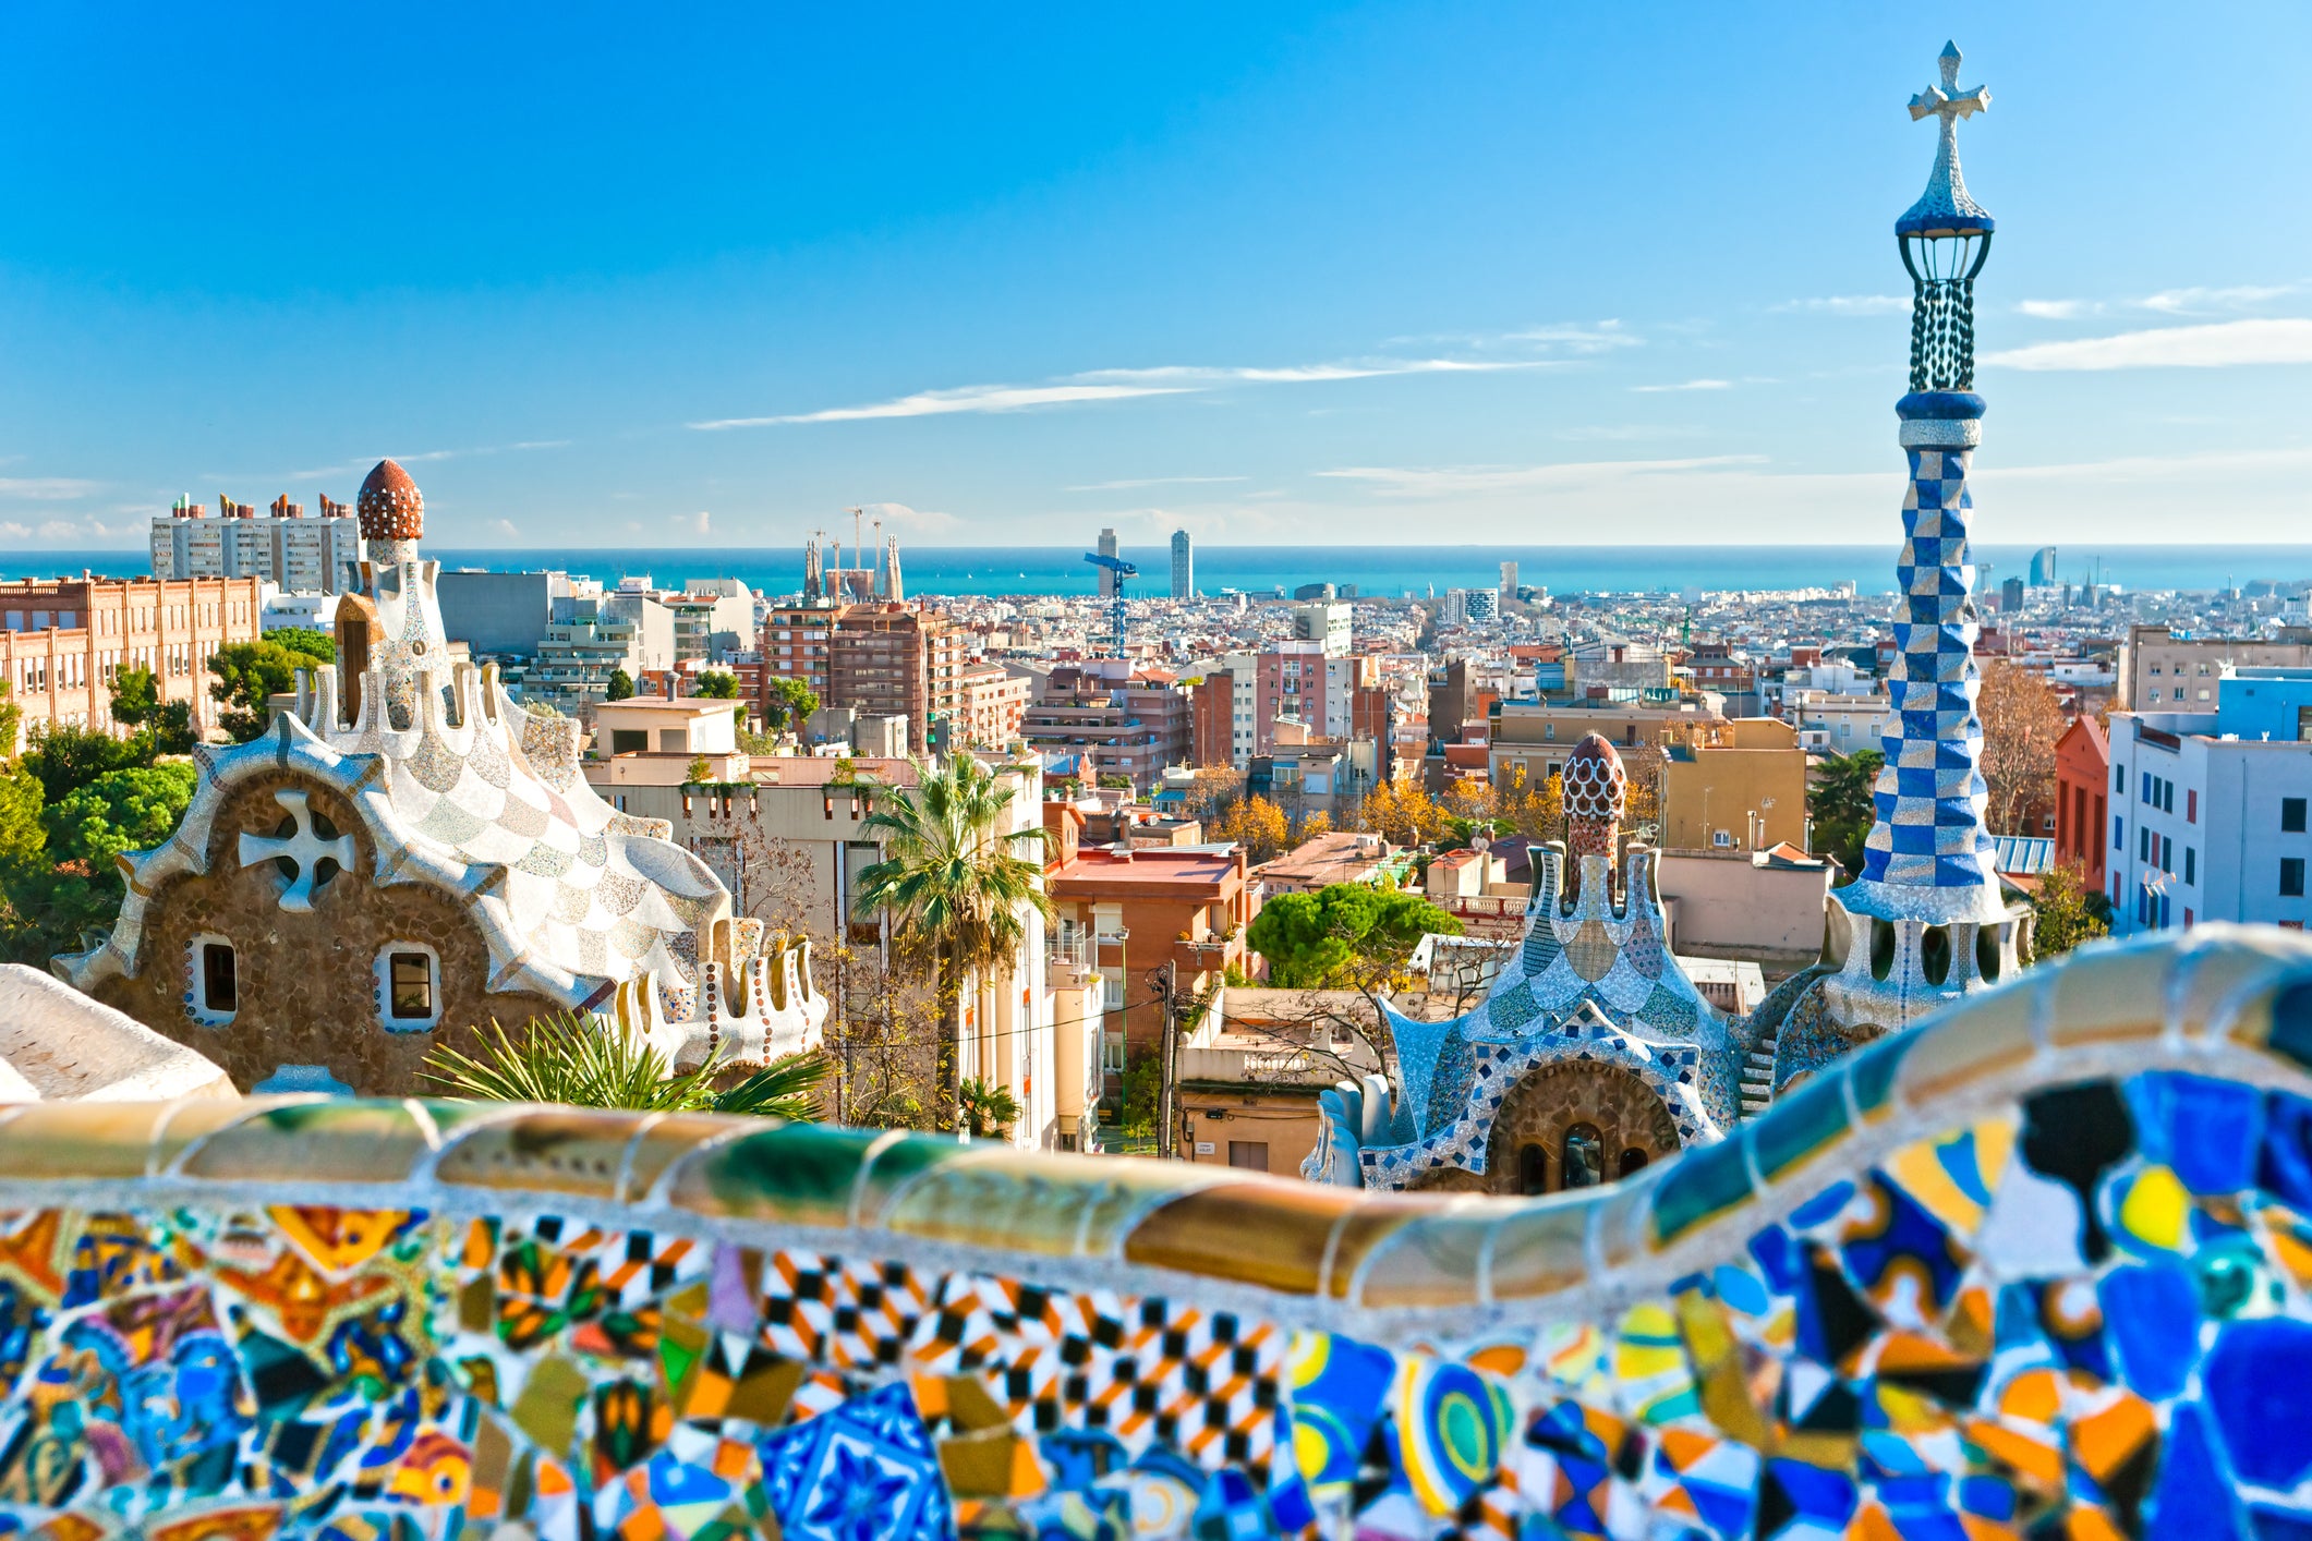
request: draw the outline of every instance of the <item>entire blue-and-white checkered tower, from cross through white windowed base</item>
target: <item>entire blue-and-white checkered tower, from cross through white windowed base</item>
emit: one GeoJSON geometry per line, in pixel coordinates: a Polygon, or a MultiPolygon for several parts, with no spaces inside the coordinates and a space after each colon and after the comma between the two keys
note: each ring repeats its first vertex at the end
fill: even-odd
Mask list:
{"type": "Polygon", "coordinates": [[[1984,88],[1958,88],[1958,49],[1942,51],[1942,85],[1910,99],[1935,118],[1940,143],[1926,192],[1896,219],[1912,280],[1910,393],[1896,402],[1910,457],[1903,497],[1894,670],[1894,732],[1875,788],[1877,820],[1861,878],[1833,894],[1833,950],[1845,922],[1845,966],[1824,982],[1831,1017],[1891,1030],[1944,1000],[2009,977],[2030,945],[2023,906],[2009,906],[1984,827],[1974,714],[1974,559],[1968,550],[1968,462],[1981,444],[1974,393],[1974,277],[1991,254],[1991,215],[1958,173],[1958,120],[1991,106],[1984,88]]]}

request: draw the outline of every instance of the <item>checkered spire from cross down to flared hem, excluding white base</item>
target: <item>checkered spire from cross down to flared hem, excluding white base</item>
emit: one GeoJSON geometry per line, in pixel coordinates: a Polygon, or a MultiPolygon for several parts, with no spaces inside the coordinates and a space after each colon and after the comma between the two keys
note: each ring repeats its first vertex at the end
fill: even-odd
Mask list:
{"type": "Polygon", "coordinates": [[[1988,92],[1956,92],[1958,49],[1942,51],[1942,88],[1912,97],[1912,118],[1942,120],[1942,148],[1926,196],[1896,224],[1903,263],[1919,280],[1912,317],[1912,393],[1896,402],[1898,441],[1910,457],[1903,497],[1903,552],[1896,559],[1898,610],[1887,677],[1894,732],[1875,788],[1877,820],[1863,843],[1861,880],[1847,908],[1882,917],[1951,922],[2005,915],[1984,827],[1984,725],[1974,714],[1974,557],[1968,548],[1968,462],[1981,441],[1984,397],[1919,388],[1919,335],[1965,300],[1965,374],[1972,381],[1972,280],[1991,240],[1991,217],[1958,178],[1954,125],[1988,104],[1988,92]],[[1968,247],[1958,252],[1956,247],[1968,247]],[[1921,275],[1942,277],[1921,277],[1921,275]]]}

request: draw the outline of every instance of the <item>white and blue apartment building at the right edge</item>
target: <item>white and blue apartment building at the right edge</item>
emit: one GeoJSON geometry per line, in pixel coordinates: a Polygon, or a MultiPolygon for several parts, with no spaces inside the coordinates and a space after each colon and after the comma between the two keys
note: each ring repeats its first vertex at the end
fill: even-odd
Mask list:
{"type": "MultiPolygon", "coordinates": [[[[2196,679],[2196,675],[2192,675],[2196,679]]],[[[2312,917],[2312,668],[2217,677],[2217,709],[2113,712],[2113,933],[2312,917]]]]}

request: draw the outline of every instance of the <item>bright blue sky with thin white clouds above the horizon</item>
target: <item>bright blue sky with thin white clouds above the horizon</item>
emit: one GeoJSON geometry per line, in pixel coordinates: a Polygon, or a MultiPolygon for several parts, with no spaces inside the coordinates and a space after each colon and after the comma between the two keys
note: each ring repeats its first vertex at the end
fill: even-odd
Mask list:
{"type": "Polygon", "coordinates": [[[0,9],[0,543],[1891,538],[1947,35],[1981,538],[2303,538],[2312,9],[1279,0],[0,9]]]}

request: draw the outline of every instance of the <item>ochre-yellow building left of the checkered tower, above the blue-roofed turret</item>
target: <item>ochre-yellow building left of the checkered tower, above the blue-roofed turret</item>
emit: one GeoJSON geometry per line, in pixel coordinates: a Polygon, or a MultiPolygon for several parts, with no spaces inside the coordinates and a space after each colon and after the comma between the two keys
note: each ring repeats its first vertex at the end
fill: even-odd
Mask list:
{"type": "Polygon", "coordinates": [[[1806,850],[1806,751],[1771,716],[1692,723],[1665,735],[1665,850],[1806,850]]]}

